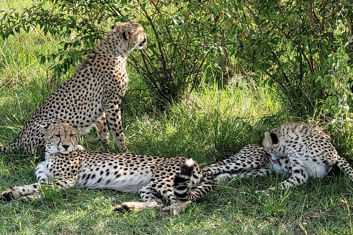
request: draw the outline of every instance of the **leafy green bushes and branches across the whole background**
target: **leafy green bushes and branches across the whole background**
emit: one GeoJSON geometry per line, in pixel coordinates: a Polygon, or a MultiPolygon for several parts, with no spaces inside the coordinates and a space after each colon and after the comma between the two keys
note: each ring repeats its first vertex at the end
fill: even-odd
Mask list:
{"type": "Polygon", "coordinates": [[[276,89],[290,116],[321,120],[344,145],[352,129],[352,19],[353,3],[337,0],[37,0],[5,12],[0,36],[39,28],[59,37],[57,50],[41,56],[58,78],[109,23],[136,21],[149,44],[129,62],[157,109],[205,83],[224,89],[242,74],[276,89]]]}

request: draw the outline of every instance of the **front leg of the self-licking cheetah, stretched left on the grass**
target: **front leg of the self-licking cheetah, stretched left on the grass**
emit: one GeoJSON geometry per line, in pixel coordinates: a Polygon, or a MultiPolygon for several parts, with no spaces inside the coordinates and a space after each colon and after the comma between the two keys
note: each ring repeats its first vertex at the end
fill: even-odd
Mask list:
{"type": "Polygon", "coordinates": [[[309,173],[303,165],[297,165],[293,167],[292,175],[285,181],[278,184],[278,187],[271,187],[266,190],[257,190],[255,193],[266,193],[269,194],[274,191],[276,188],[287,189],[294,186],[303,185],[309,179],[309,173]]]}

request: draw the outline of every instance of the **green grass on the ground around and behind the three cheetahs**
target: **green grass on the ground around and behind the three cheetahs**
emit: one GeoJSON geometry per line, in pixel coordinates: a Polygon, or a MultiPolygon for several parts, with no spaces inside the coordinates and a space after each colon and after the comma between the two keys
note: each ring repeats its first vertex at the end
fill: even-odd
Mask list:
{"type": "MultiPolygon", "coordinates": [[[[21,8],[21,4],[29,3],[3,1],[0,8],[21,8]]],[[[55,89],[50,64],[40,65],[38,56],[53,51],[56,43],[37,31],[0,41],[1,144],[16,138],[55,89]]],[[[160,113],[149,105],[138,74],[129,75],[123,116],[126,143],[133,153],[182,155],[206,165],[248,143],[258,143],[265,130],[288,120],[276,92],[247,77],[225,90],[205,84],[160,113]]],[[[83,143],[89,151],[105,151],[93,131],[83,143]]],[[[33,183],[35,160],[35,156],[0,155],[0,191],[33,183]]],[[[352,234],[353,188],[347,177],[329,176],[271,196],[254,193],[280,180],[282,176],[275,175],[233,180],[176,218],[153,209],[112,211],[116,204],[138,200],[137,194],[81,188],[51,192],[42,200],[0,203],[0,234],[352,234]]]]}

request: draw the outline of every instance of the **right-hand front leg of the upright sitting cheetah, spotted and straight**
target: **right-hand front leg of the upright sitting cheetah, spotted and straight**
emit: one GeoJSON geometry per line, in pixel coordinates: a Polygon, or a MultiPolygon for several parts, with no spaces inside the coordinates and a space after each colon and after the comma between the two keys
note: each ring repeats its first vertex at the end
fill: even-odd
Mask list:
{"type": "Polygon", "coordinates": [[[107,105],[104,108],[107,115],[110,130],[113,132],[113,139],[122,152],[127,152],[125,146],[125,135],[123,132],[121,109],[119,105],[107,105]]]}

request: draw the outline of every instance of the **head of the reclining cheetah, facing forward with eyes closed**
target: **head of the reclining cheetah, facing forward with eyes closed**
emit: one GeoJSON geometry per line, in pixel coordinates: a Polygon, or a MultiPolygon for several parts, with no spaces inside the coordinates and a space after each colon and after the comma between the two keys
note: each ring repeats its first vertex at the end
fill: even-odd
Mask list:
{"type": "Polygon", "coordinates": [[[78,135],[74,127],[59,122],[51,126],[40,126],[45,135],[46,153],[69,153],[77,149],[78,135]]]}

